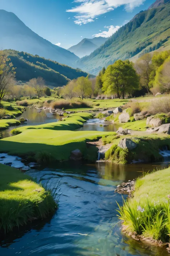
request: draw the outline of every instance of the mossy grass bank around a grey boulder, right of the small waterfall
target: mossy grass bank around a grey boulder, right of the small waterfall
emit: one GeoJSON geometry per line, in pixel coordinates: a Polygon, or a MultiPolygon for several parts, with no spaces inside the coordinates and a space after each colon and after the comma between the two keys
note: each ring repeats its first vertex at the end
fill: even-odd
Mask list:
{"type": "MultiPolygon", "coordinates": [[[[107,141],[112,140],[111,136],[107,137],[107,141]]],[[[156,162],[162,160],[159,151],[165,145],[170,148],[170,136],[166,134],[148,136],[121,136],[120,138],[112,140],[112,146],[105,153],[105,159],[114,163],[131,163],[134,161],[156,162]],[[122,149],[118,147],[119,142],[129,138],[137,144],[137,147],[131,151],[127,148],[122,149]]]]}

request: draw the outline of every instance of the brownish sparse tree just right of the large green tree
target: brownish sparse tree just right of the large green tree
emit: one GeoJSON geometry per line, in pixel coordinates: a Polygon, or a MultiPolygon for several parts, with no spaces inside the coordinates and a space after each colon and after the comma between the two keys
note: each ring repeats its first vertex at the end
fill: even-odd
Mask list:
{"type": "Polygon", "coordinates": [[[150,87],[152,86],[150,85],[150,82],[154,76],[151,53],[146,53],[139,58],[135,63],[135,68],[140,76],[141,85],[146,87],[149,93],[150,87]]]}

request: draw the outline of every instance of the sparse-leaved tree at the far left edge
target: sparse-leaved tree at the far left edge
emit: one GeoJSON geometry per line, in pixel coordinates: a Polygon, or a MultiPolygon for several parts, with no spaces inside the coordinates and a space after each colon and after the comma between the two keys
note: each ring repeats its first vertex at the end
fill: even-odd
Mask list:
{"type": "Polygon", "coordinates": [[[0,104],[14,82],[14,67],[4,51],[0,51],[0,104]]]}

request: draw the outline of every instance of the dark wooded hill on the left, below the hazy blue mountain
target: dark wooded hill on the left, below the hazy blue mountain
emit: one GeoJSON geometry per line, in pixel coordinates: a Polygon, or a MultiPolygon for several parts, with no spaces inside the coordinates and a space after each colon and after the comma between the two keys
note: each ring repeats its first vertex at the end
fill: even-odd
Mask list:
{"type": "Polygon", "coordinates": [[[16,80],[29,81],[34,77],[41,76],[47,85],[63,86],[71,79],[87,76],[88,73],[81,69],[71,68],[56,61],[41,58],[38,55],[32,55],[23,51],[5,50],[16,68],[16,80]]]}

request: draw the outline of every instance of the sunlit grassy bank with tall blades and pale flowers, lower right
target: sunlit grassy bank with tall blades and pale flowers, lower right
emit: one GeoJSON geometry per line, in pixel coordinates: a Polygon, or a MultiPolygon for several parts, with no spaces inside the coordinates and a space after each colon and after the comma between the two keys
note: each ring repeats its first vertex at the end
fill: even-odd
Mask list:
{"type": "Polygon", "coordinates": [[[170,168],[138,179],[133,198],[120,207],[124,231],[143,238],[169,242],[170,239],[170,168]]]}

